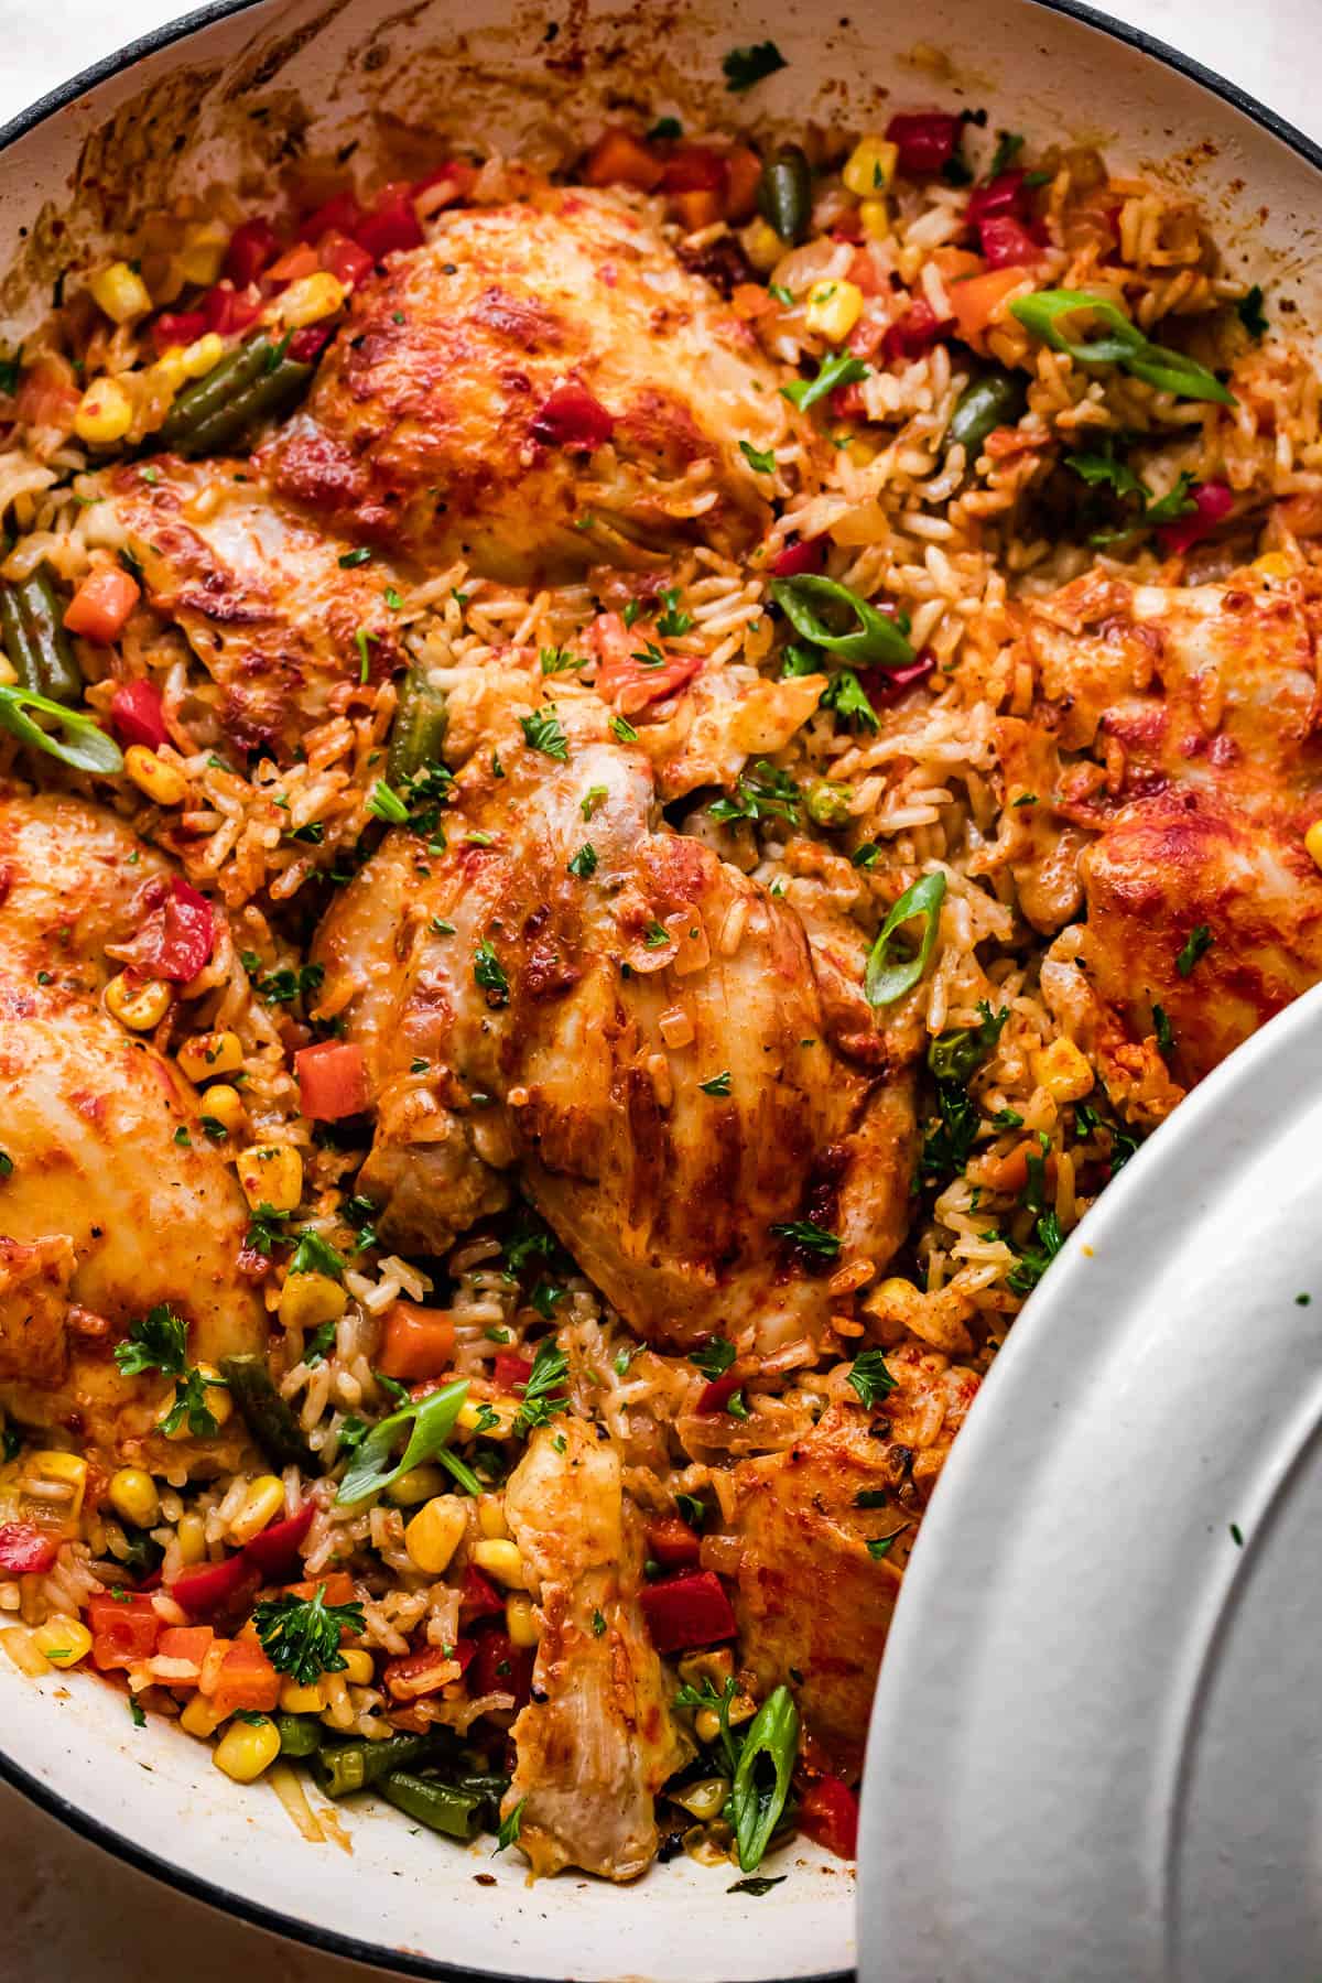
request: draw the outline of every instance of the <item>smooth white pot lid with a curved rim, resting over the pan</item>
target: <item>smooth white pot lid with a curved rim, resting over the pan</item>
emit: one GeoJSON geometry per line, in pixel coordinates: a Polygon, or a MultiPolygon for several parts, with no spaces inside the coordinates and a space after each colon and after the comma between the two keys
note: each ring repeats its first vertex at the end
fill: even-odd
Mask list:
{"type": "Polygon", "coordinates": [[[862,1983],[1322,1973],[1320,1200],[1322,988],[1070,1235],[955,1442],[872,1717],[862,1983]]]}

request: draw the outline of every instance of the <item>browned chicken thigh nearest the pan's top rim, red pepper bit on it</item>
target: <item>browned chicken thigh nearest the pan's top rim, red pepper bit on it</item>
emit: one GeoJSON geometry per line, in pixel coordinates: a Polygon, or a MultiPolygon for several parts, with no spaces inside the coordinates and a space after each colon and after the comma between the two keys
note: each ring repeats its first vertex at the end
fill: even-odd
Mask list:
{"type": "Polygon", "coordinates": [[[634,204],[543,186],[444,214],[363,284],[270,470],[337,529],[434,569],[555,579],[646,561],[696,525],[708,543],[761,535],[765,478],[737,442],[791,432],[777,385],[634,204]],[[605,426],[575,418],[573,393],[605,426]]]}

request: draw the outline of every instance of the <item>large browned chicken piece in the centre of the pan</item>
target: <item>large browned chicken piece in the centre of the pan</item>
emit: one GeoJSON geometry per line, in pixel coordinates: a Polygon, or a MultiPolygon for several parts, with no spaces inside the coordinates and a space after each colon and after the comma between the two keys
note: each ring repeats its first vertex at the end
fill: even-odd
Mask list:
{"type": "Polygon", "coordinates": [[[856,988],[823,995],[799,916],[660,823],[597,696],[551,708],[525,670],[474,676],[490,726],[456,708],[448,847],[392,833],[315,944],[321,1009],[367,1057],[379,1229],[442,1251],[517,1164],[640,1333],[821,1333],[832,1267],[880,1267],[904,1233],[910,1079],[856,988]],[[539,704],[525,720],[555,720],[563,759],[523,742],[539,704]],[[807,1220],[838,1261],[775,1231],[807,1220]]]}

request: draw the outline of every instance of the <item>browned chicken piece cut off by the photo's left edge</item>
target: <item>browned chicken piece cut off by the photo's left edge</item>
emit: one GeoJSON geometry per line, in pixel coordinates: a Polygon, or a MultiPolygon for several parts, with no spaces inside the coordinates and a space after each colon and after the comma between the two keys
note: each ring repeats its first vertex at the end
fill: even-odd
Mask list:
{"type": "Polygon", "coordinates": [[[236,1269],[246,1210],[198,1128],[178,1069],[97,1003],[166,873],[109,813],[54,795],[0,799],[0,1404],[103,1459],[163,1471],[240,1463],[238,1432],[163,1440],[168,1382],[127,1378],[113,1346],[168,1303],[192,1362],[266,1346],[236,1269]],[[38,974],[50,982],[42,984],[38,974]],[[184,1130],[188,1142],[176,1142],[184,1130]]]}

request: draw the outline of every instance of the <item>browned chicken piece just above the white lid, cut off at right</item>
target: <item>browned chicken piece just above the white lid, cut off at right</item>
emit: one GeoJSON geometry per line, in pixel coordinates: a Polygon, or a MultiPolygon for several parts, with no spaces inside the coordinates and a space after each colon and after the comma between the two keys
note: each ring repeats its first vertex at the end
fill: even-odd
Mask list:
{"type": "Polygon", "coordinates": [[[1041,700],[999,726],[1007,795],[1035,795],[1015,878],[1041,930],[1086,902],[1043,986],[1088,1005],[1112,1097],[1159,1114],[1177,1091],[1138,1059],[1156,1007],[1189,1085],[1322,976],[1316,605],[1255,575],[1088,577],[1031,611],[1027,650],[1041,700]]]}

